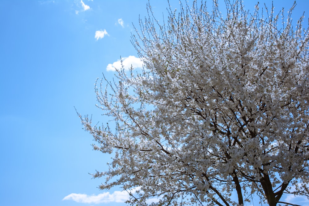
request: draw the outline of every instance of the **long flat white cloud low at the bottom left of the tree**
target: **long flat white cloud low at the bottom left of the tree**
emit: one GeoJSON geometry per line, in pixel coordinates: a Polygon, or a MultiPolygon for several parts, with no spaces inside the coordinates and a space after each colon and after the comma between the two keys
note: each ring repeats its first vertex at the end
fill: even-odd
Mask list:
{"type": "Polygon", "coordinates": [[[62,200],[73,200],[79,203],[99,204],[109,202],[125,202],[129,200],[130,196],[127,191],[114,191],[112,194],[104,192],[99,195],[86,195],[72,193],[67,195],[62,200]]]}

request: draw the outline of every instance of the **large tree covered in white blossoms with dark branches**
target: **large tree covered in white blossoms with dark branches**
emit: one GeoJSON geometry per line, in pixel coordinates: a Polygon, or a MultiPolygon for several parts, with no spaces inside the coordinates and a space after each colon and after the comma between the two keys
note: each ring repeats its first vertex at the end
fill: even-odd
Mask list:
{"type": "Polygon", "coordinates": [[[93,148],[113,154],[93,174],[106,178],[100,188],[121,186],[136,205],[309,197],[309,34],[304,16],[292,26],[294,6],[284,17],[226,1],[225,16],[216,1],[210,12],[180,3],[162,25],[148,6],[132,36],[143,69],[119,68],[95,86],[115,126],[79,115],[93,148]]]}

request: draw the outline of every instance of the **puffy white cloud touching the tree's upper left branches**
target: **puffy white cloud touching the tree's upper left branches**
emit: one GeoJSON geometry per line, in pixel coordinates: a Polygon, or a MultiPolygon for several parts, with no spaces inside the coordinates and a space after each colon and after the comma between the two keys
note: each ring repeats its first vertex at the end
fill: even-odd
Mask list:
{"type": "MultiPolygon", "coordinates": [[[[122,58],[122,65],[124,66],[125,69],[129,69],[131,65],[133,68],[142,68],[143,62],[140,58],[134,57],[134,56],[129,56],[129,57],[124,57],[122,58]]],[[[117,69],[121,69],[121,60],[119,59],[118,61],[115,61],[112,64],[108,64],[106,67],[107,71],[115,71],[117,69]]]]}

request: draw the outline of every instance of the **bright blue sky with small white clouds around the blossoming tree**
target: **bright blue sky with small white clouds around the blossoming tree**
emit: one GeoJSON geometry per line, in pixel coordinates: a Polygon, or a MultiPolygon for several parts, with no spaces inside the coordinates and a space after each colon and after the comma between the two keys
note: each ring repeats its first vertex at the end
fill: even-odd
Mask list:
{"type": "MultiPolygon", "coordinates": [[[[147,2],[0,2],[0,205],[125,205],[125,193],[100,191],[104,180],[88,174],[105,170],[110,156],[92,150],[74,107],[106,121],[95,107],[95,79],[102,72],[112,79],[120,56],[140,65],[130,36],[132,23],[138,26],[139,15],[146,16],[147,2]]],[[[244,5],[253,10],[255,2],[244,5]]],[[[290,8],[293,2],[274,5],[290,8]]],[[[167,1],[150,3],[161,18],[167,1]]],[[[306,11],[308,19],[309,2],[297,4],[295,17],[306,11]]]]}

